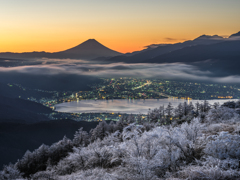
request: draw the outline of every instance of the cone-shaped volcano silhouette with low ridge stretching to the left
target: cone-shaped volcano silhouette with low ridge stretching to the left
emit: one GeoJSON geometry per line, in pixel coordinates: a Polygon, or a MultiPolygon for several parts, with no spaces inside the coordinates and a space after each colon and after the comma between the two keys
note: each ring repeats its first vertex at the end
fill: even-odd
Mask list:
{"type": "Polygon", "coordinates": [[[70,59],[83,59],[91,60],[98,57],[113,57],[121,55],[121,53],[111,50],[102,45],[95,39],[89,39],[73,48],[55,52],[24,52],[24,53],[0,53],[0,57],[3,58],[70,58],[70,59]]]}

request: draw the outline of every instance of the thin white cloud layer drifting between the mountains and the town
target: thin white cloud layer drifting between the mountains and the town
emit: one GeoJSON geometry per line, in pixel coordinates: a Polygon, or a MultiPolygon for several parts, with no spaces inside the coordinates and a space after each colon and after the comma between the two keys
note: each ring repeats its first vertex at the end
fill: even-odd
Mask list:
{"type": "Polygon", "coordinates": [[[0,74],[25,75],[79,75],[89,77],[139,77],[174,80],[239,83],[240,76],[217,77],[209,71],[201,71],[193,65],[171,64],[89,64],[76,60],[44,60],[40,65],[0,67],[0,74]]]}

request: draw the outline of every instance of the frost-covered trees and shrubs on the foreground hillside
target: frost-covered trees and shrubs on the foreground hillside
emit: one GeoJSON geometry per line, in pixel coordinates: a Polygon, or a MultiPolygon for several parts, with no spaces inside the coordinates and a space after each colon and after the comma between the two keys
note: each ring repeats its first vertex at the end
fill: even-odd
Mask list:
{"type": "Polygon", "coordinates": [[[240,100],[169,103],[102,121],[89,133],[27,151],[0,180],[225,180],[240,178],[240,100]]]}

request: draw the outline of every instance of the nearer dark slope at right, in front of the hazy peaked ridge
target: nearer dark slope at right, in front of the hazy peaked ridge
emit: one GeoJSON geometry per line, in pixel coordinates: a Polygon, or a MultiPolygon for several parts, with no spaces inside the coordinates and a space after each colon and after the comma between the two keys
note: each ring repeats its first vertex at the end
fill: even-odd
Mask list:
{"type": "Polygon", "coordinates": [[[143,62],[194,63],[204,70],[218,72],[218,75],[240,75],[240,41],[186,47],[143,62]]]}

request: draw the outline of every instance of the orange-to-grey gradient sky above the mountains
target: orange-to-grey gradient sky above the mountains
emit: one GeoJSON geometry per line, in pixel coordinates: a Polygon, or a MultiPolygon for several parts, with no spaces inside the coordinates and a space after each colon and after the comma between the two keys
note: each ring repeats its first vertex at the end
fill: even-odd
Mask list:
{"type": "Polygon", "coordinates": [[[119,52],[240,31],[240,0],[0,0],[0,52],[96,39],[119,52]]]}

